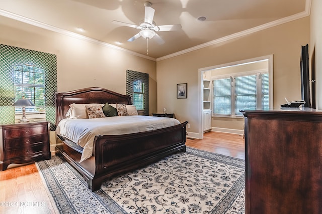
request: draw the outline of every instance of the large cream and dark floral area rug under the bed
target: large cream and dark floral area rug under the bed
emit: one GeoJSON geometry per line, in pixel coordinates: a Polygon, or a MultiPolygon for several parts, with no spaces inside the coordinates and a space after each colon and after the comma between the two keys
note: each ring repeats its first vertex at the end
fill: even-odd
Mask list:
{"type": "Polygon", "coordinates": [[[187,147],[92,192],[63,157],[37,162],[60,213],[245,213],[245,161],[187,147]]]}

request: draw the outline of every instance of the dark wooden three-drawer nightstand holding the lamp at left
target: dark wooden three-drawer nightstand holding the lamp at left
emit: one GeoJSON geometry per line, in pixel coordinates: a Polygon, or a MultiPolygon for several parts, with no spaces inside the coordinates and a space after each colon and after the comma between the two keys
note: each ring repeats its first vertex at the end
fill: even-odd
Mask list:
{"type": "Polygon", "coordinates": [[[11,163],[51,159],[49,122],[0,125],[0,170],[11,163]]]}

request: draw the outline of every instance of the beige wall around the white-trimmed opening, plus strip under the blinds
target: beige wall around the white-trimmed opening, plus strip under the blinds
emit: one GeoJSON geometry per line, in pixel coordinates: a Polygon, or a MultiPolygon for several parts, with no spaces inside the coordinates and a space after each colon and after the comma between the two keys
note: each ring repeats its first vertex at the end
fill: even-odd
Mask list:
{"type": "MultiPolygon", "coordinates": [[[[198,132],[198,69],[273,54],[274,107],[300,95],[300,50],[309,43],[309,17],[212,45],[156,63],[157,110],[167,108],[188,132],[198,132]],[[176,98],[176,85],[188,83],[188,98],[176,98]]],[[[212,126],[243,129],[243,119],[213,120],[212,126]]]]}

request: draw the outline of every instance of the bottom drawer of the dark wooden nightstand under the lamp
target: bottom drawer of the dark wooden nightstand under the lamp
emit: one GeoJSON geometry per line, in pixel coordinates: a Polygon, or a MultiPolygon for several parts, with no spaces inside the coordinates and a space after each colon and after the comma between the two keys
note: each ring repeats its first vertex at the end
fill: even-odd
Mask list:
{"type": "Polygon", "coordinates": [[[39,143],[30,147],[8,150],[5,158],[14,159],[42,154],[45,147],[46,143],[39,143]]]}

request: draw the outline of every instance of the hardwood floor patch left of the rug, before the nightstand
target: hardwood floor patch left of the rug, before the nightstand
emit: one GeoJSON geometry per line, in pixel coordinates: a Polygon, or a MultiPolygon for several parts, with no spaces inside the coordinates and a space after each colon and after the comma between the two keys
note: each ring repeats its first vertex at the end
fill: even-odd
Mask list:
{"type": "Polygon", "coordinates": [[[0,213],[55,213],[36,164],[0,171],[0,213]]]}

